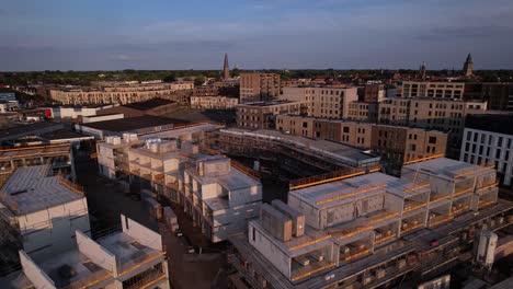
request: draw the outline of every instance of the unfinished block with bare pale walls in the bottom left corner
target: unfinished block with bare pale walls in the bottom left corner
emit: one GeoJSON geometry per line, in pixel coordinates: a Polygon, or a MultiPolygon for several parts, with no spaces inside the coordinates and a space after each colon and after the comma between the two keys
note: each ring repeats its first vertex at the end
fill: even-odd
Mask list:
{"type": "Polygon", "coordinates": [[[160,234],[121,216],[123,231],[99,240],[76,231],[72,248],[43,261],[20,251],[22,270],[2,288],[162,288],[169,270],[160,234]]]}

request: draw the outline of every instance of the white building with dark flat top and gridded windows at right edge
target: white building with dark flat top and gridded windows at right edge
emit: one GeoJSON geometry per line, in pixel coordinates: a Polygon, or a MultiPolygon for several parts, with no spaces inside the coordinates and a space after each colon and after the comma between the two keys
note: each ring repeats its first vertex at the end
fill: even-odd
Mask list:
{"type": "Polygon", "coordinates": [[[469,115],[459,160],[494,165],[500,182],[513,186],[513,115],[469,115]]]}

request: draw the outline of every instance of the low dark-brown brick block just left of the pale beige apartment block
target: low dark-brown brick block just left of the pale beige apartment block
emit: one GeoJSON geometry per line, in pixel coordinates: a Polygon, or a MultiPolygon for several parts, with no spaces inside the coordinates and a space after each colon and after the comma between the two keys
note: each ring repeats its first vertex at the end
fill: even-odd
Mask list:
{"type": "Polygon", "coordinates": [[[305,114],[306,102],[270,101],[237,105],[237,126],[248,128],[274,128],[275,118],[282,114],[305,114]]]}

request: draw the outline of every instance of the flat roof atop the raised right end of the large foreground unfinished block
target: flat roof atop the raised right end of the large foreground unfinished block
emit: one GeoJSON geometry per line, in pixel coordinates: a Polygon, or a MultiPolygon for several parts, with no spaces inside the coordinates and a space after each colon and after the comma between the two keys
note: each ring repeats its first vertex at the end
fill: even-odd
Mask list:
{"type": "Polygon", "coordinates": [[[478,175],[495,173],[490,166],[480,166],[467,162],[456,161],[447,158],[437,158],[404,165],[403,169],[428,173],[445,180],[465,180],[478,175]]]}

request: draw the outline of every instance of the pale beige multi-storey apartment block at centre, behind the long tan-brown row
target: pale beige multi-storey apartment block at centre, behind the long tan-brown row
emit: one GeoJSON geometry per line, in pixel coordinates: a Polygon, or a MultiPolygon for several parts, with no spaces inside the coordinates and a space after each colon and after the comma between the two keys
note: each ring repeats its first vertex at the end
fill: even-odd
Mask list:
{"type": "Polygon", "coordinates": [[[357,88],[290,86],[283,88],[282,100],[306,102],[308,116],[347,118],[350,103],[358,100],[357,88]]]}

